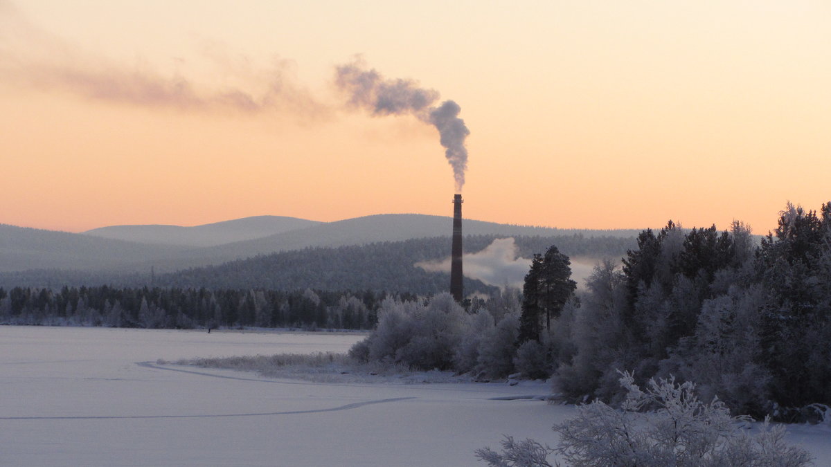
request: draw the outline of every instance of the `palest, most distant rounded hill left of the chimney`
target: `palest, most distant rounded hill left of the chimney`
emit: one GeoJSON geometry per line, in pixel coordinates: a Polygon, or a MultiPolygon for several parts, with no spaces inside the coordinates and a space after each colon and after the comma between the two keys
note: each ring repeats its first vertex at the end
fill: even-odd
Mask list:
{"type": "Polygon", "coordinates": [[[303,229],[315,220],[283,216],[253,216],[213,224],[182,227],[179,225],[112,225],[91,229],[82,234],[137,243],[189,247],[212,247],[223,243],[268,237],[288,230],[303,229]]]}

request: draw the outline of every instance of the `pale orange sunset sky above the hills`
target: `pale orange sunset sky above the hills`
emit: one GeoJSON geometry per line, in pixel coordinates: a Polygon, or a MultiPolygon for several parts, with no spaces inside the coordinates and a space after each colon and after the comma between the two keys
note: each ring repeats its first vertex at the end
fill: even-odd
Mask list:
{"type": "Polygon", "coordinates": [[[829,24],[824,0],[0,0],[0,223],[451,215],[436,126],[356,105],[357,66],[460,106],[466,218],[765,234],[831,200],[829,24]]]}

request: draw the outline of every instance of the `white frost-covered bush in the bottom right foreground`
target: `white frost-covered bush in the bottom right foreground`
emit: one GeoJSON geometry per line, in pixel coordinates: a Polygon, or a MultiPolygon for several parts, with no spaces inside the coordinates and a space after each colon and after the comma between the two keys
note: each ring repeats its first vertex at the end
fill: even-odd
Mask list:
{"type": "Polygon", "coordinates": [[[578,416],[553,430],[560,434],[554,449],[534,440],[503,441],[503,451],[489,448],[476,456],[492,466],[545,466],[546,455],[556,453],[567,465],[614,466],[786,466],[810,464],[802,448],[784,441],[784,427],[749,435],[746,417],[730,416],[718,399],[701,402],[691,382],[649,381],[646,390],[623,373],[627,391],[620,409],[602,401],[578,407],[578,416]]]}

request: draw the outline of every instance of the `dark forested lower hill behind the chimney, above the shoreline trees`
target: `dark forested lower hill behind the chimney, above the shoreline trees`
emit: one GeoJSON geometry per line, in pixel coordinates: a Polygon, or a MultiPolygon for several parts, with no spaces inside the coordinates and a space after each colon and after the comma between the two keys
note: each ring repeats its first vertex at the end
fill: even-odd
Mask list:
{"type": "MultiPolygon", "coordinates": [[[[513,258],[503,252],[486,252],[499,235],[474,235],[465,237],[465,254],[474,253],[479,258],[466,261],[465,290],[467,292],[489,292],[494,286],[521,281],[527,273],[528,264],[514,270],[513,258]],[[514,272],[506,274],[505,268],[514,272]],[[481,279],[485,273],[487,278],[481,279]],[[504,279],[504,280],[502,280],[504,279]]],[[[543,253],[552,244],[573,259],[573,278],[582,283],[583,277],[591,271],[593,258],[620,258],[628,248],[635,248],[633,237],[584,237],[583,235],[559,236],[514,236],[515,252],[530,263],[534,253],[543,253]],[[583,258],[583,264],[578,263],[583,258]]],[[[35,270],[16,273],[0,273],[0,287],[49,287],[68,285],[116,287],[161,287],[161,288],[212,288],[245,289],[265,288],[273,290],[302,290],[312,288],[327,291],[362,290],[386,292],[411,292],[430,295],[445,291],[450,282],[446,271],[428,271],[418,263],[440,261],[450,255],[450,237],[414,238],[396,242],[379,242],[339,247],[310,247],[282,253],[261,254],[252,258],[239,259],[199,268],[180,269],[175,272],[155,268],[151,277],[150,268],[132,273],[97,273],[95,271],[35,270]]],[[[512,255],[513,256],[513,255],[512,255]]],[[[517,260],[518,264],[523,263],[517,260]]]]}

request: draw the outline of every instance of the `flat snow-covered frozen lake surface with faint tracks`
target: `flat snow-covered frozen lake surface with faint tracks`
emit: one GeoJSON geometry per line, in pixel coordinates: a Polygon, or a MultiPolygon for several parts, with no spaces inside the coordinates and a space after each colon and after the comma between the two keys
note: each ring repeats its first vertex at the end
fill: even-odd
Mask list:
{"type": "MultiPolygon", "coordinates": [[[[360,335],[0,327],[0,465],[484,465],[502,434],[554,444],[540,383],[323,384],[158,366],[346,351],[360,335]],[[150,363],[142,363],[150,362],[150,363]]],[[[831,465],[831,429],[789,428],[831,465]]]]}

